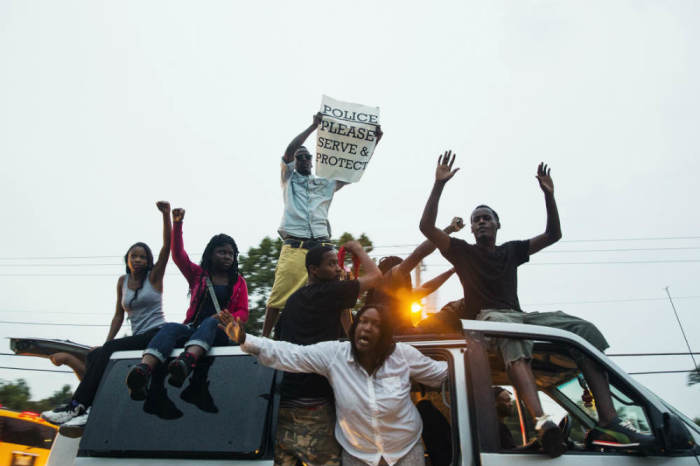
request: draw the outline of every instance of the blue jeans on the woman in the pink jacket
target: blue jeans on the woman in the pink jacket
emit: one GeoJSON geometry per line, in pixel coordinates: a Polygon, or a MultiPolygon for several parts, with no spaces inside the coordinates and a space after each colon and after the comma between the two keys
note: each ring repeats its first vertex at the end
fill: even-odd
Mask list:
{"type": "Polygon", "coordinates": [[[205,353],[212,346],[226,346],[229,339],[218,324],[219,321],[214,316],[204,319],[197,328],[172,322],[165,324],[148,343],[143,354],[150,354],[160,362],[165,362],[173,349],[183,344],[185,348],[192,345],[201,346],[205,353]]]}

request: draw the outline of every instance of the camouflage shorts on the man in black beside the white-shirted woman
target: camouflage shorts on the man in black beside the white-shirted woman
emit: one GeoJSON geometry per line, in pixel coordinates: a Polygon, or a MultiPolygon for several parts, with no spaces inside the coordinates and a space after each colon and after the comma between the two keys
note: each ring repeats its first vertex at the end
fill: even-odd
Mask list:
{"type": "Polygon", "coordinates": [[[277,417],[275,464],[295,466],[340,465],[340,445],[333,436],[335,409],[332,404],[311,408],[280,407],[277,417]]]}

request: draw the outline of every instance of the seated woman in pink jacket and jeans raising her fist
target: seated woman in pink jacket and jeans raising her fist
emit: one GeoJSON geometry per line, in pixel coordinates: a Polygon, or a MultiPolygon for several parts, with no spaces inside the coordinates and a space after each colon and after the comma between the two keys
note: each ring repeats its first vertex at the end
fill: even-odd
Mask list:
{"type": "Polygon", "coordinates": [[[168,365],[168,382],[179,387],[212,346],[228,344],[226,334],[217,327],[218,320],[214,317],[220,309],[228,309],[243,322],[248,320],[248,287],[238,272],[236,242],[223,233],[214,236],[202,254],[202,262],[197,265],[183,246],[184,217],[184,209],[173,210],[171,251],[175,265],[190,286],[190,307],[184,323],[164,325],[148,344],[141,363],[129,371],[126,385],[135,400],[146,398],[153,369],[164,363],[174,348],[181,345],[185,348],[168,365]]]}

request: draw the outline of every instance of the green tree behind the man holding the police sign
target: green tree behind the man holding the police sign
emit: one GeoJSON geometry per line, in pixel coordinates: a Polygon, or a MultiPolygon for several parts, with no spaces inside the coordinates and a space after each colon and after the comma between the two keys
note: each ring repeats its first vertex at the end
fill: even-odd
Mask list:
{"type": "MultiPolygon", "coordinates": [[[[340,246],[354,239],[355,237],[352,234],[346,232],[340,235],[336,241],[333,241],[333,244],[340,246]]],[[[357,238],[357,241],[364,246],[367,252],[372,250],[372,241],[364,233],[357,238]]],[[[265,304],[272,290],[272,284],[275,282],[275,267],[277,267],[277,259],[281,250],[281,239],[271,239],[266,236],[257,247],[251,247],[245,254],[241,254],[238,259],[241,273],[248,284],[250,316],[245,329],[246,332],[253,335],[262,333],[265,304]]],[[[346,258],[346,263],[348,266],[350,265],[349,257],[346,258]]]]}

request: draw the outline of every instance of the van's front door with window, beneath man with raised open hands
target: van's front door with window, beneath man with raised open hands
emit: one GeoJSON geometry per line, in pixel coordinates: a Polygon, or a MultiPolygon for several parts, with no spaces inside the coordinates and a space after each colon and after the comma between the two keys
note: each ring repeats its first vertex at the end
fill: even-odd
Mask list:
{"type": "MultiPolygon", "coordinates": [[[[554,416],[567,443],[567,451],[551,459],[541,452],[534,430],[534,420],[511,386],[502,357],[493,344],[494,338],[505,337],[497,332],[469,332],[466,365],[471,374],[470,402],[475,413],[479,456],[485,466],[505,464],[551,465],[698,465],[697,446],[690,442],[685,449],[667,454],[663,432],[663,415],[643,393],[627,382],[623,374],[613,372],[597,356],[583,347],[561,339],[537,337],[534,341],[531,366],[540,402],[545,413],[554,416]],[[654,436],[654,442],[643,449],[611,448],[604,442],[593,442],[589,433],[598,416],[585,378],[577,365],[587,357],[601,363],[609,375],[613,404],[617,415],[637,430],[654,436]],[[499,403],[512,396],[510,408],[499,403]]],[[[508,338],[517,338],[510,334],[508,338]]],[[[508,403],[506,402],[506,405],[508,403]]]]}

